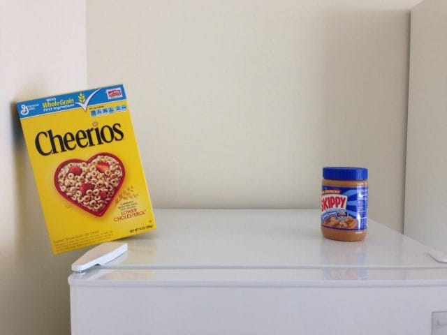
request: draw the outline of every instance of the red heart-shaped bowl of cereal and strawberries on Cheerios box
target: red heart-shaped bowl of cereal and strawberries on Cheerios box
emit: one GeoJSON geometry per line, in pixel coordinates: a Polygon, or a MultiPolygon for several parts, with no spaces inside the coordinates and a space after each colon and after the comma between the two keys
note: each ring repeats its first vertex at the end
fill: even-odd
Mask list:
{"type": "Polygon", "coordinates": [[[124,165],[117,156],[101,152],[88,161],[70,159],[54,173],[54,186],[68,201],[102,216],[124,181],[124,165]]]}

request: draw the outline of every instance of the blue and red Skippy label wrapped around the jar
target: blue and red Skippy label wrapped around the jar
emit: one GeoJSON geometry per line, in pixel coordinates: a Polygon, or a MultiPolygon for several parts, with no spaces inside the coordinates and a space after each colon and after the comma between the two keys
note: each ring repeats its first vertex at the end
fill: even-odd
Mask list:
{"type": "Polygon", "coordinates": [[[342,230],[367,228],[367,187],[337,188],[323,186],[321,225],[342,230]]]}

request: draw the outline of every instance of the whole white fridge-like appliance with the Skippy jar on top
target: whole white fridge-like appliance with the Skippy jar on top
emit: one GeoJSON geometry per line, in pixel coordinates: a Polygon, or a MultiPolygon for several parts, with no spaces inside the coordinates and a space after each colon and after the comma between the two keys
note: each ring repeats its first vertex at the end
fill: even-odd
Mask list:
{"type": "Polygon", "coordinates": [[[155,214],[68,278],[73,335],[447,334],[447,265],[380,223],[341,242],[314,210],[155,214]]]}

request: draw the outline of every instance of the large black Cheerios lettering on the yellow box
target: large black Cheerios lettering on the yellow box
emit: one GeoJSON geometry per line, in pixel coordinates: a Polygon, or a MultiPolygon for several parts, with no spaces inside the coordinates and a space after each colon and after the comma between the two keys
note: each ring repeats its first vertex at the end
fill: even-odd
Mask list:
{"type": "Polygon", "coordinates": [[[80,129],[75,133],[54,134],[52,129],[40,131],[37,133],[34,143],[36,149],[42,156],[57,154],[59,152],[71,151],[77,147],[93,147],[113,141],[121,141],[124,133],[121,124],[113,124],[112,126],[94,127],[88,129],[80,129]]]}

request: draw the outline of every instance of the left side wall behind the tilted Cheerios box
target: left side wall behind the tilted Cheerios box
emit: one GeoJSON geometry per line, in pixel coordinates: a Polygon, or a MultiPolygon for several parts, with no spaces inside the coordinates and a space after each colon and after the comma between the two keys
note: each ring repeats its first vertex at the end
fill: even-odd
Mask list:
{"type": "Polygon", "coordinates": [[[0,0],[0,334],[69,334],[67,277],[53,256],[14,103],[86,87],[85,1],[0,0]]]}

